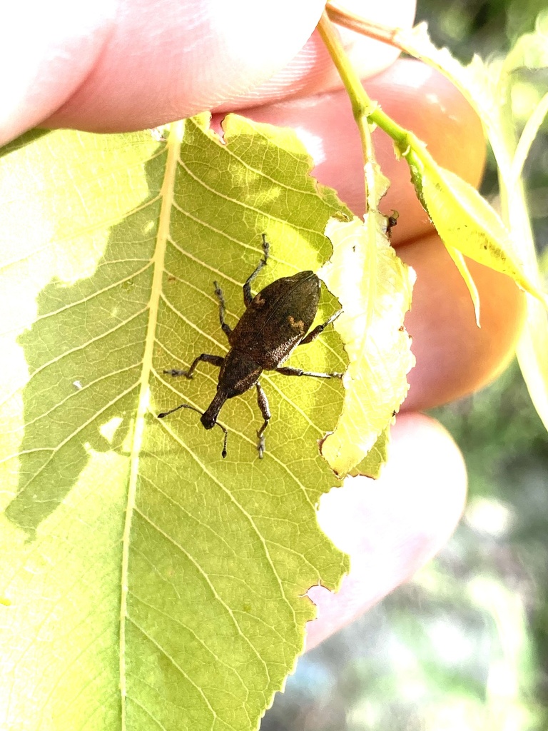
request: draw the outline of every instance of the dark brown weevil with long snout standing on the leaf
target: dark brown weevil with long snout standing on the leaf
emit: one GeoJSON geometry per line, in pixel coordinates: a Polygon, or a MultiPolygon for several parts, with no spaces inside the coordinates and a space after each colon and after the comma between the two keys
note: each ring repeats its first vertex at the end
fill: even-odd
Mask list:
{"type": "Polygon", "coordinates": [[[243,285],[243,302],[246,311],[243,313],[236,327],[232,327],[224,320],[224,296],[217,282],[215,294],[219,301],[219,321],[221,329],[229,341],[229,352],[221,355],[202,353],[194,358],[188,371],[179,371],[176,368],[164,371],[171,376],[186,376],[192,378],[196,366],[201,361],[210,363],[219,368],[217,393],[213,397],[205,412],[200,412],[189,404],[180,404],[175,409],[158,414],[159,418],[172,414],[178,409],[192,409],[202,414],[200,421],[206,429],[215,425],[224,431],[224,447],[222,455],[227,455],[227,430],[217,422],[217,417],[228,398],[246,393],[252,386],[256,387],[257,403],[261,410],[264,423],[257,431],[257,450],[259,457],[265,453],[265,429],[270,420],[270,407],[265,391],[259,382],[262,371],[276,371],[284,376],[312,376],[313,378],[341,378],[340,373],[315,373],[302,371],[301,368],[282,366],[298,345],[311,343],[330,325],[339,315],[338,310],[329,319],[308,333],[316,312],[318,311],[321,282],[312,271],[299,272],[293,276],[285,276],[268,284],[254,298],[251,297],[251,282],[262,270],[268,261],[269,243],[266,235],[262,235],[262,250],[264,257],[256,269],[243,285]]]}

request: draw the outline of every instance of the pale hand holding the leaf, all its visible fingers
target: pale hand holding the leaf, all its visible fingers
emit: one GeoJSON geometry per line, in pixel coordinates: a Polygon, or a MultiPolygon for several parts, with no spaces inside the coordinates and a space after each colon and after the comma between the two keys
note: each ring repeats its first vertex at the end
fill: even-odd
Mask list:
{"type": "MultiPolygon", "coordinates": [[[[346,2],[368,17],[373,5],[377,22],[412,22],[412,1],[346,2]]],[[[316,34],[311,37],[322,6],[321,0],[270,6],[52,0],[28,13],[10,4],[7,22],[26,42],[13,33],[0,49],[2,67],[10,69],[1,91],[0,143],[37,124],[123,132],[205,109],[245,110],[260,121],[298,126],[311,144],[316,176],[359,215],[359,139],[330,59],[316,34]]],[[[462,96],[422,64],[397,61],[394,50],[349,33],[343,41],[369,96],[422,137],[438,163],[477,185],[482,129],[462,96]]],[[[376,137],[379,162],[392,180],[385,207],[400,213],[393,243],[418,274],[406,320],[417,366],[381,480],[355,480],[322,501],[320,522],[351,554],[352,570],[338,594],[310,591],[319,619],[310,626],[309,646],[406,580],[449,538],[463,510],[465,469],[451,437],[419,411],[471,393],[498,374],[523,317],[517,287],[471,264],[482,300],[482,329],[476,328],[464,284],[414,200],[406,164],[395,162],[389,141],[376,137]]]]}

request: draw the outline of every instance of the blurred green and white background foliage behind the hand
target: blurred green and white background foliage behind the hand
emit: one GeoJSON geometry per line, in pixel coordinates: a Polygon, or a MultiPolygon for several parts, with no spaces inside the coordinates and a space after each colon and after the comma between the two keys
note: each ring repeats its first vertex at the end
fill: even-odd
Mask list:
{"type": "MultiPolygon", "coordinates": [[[[547,33],[547,0],[419,0],[436,45],[468,62],[547,33]]],[[[548,69],[515,75],[517,127],[548,69]]],[[[525,167],[539,254],[548,242],[548,123],[525,167]]],[[[489,164],[482,192],[496,194],[489,164]]],[[[468,507],[411,582],[300,659],[261,731],[548,729],[548,434],[514,363],[435,411],[465,455],[468,507]]],[[[443,485],[440,485],[443,489],[443,485]]]]}

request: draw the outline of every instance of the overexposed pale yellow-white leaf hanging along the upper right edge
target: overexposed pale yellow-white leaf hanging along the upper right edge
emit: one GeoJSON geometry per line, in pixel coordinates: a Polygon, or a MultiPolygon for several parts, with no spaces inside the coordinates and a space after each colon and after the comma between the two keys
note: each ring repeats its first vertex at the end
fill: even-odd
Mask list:
{"type": "MultiPolygon", "coordinates": [[[[397,43],[411,56],[421,58],[446,75],[479,114],[498,164],[501,217],[511,236],[511,254],[522,268],[522,278],[531,285],[531,291],[536,295],[545,283],[536,260],[521,173],[533,137],[546,115],[548,102],[544,94],[528,115],[525,129],[519,137],[512,115],[511,92],[517,69],[547,67],[548,46],[541,24],[534,33],[520,37],[502,61],[495,59],[491,63],[484,63],[479,56],[474,56],[466,67],[453,58],[446,48],[435,48],[424,23],[412,31],[397,31],[397,43]]],[[[517,357],[533,404],[548,429],[546,295],[536,301],[528,298],[527,309],[517,357]]]]}

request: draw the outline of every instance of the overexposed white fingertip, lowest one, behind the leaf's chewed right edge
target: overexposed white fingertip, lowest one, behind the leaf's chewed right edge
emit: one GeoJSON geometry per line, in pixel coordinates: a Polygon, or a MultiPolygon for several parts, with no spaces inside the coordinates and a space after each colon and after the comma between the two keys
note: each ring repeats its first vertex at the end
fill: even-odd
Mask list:
{"type": "Polygon", "coordinates": [[[452,437],[422,414],[400,414],[379,480],[348,478],[321,499],[321,528],[349,553],[335,594],[314,586],[307,649],[349,624],[445,545],[463,512],[466,470],[452,437]]]}

